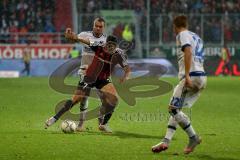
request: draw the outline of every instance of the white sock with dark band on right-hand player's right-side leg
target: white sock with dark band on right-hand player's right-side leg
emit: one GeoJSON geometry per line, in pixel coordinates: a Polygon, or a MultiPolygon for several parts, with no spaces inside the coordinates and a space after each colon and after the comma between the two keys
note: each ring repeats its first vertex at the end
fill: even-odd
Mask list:
{"type": "Polygon", "coordinates": [[[194,131],[186,114],[184,114],[182,111],[177,111],[176,114],[174,114],[174,118],[190,138],[196,135],[196,132],[194,131]]]}

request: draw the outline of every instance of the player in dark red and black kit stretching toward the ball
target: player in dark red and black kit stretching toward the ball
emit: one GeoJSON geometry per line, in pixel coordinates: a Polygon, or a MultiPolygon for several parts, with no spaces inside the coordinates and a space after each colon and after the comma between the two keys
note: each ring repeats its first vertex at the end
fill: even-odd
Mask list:
{"type": "Polygon", "coordinates": [[[120,82],[122,83],[128,79],[130,68],[126,61],[126,55],[117,48],[117,38],[114,36],[108,36],[106,43],[102,44],[80,38],[71,32],[71,30],[67,29],[65,37],[68,40],[89,45],[90,48],[94,50],[95,55],[91,65],[86,69],[84,78],[79,82],[72,99],[68,100],[56,115],[45,122],[45,128],[54,124],[65,112],[80,102],[83,97],[88,96],[87,93],[89,93],[89,89],[95,87],[101,93],[100,99],[102,106],[100,109],[100,117],[104,115],[102,121],[100,121],[99,130],[111,133],[112,131],[107,123],[112,116],[114,108],[117,106],[118,97],[117,91],[111,83],[110,75],[114,66],[119,64],[125,72],[120,82]]]}

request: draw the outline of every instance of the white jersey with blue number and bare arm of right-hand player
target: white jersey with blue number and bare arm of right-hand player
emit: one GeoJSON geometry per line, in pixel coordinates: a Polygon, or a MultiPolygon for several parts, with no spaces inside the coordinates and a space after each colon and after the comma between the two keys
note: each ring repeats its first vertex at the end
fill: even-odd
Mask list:
{"type": "Polygon", "coordinates": [[[204,72],[204,47],[202,39],[196,33],[185,30],[176,36],[176,44],[179,67],[178,77],[181,79],[185,76],[184,52],[182,50],[186,46],[190,46],[192,48],[192,63],[190,72],[204,72]]]}

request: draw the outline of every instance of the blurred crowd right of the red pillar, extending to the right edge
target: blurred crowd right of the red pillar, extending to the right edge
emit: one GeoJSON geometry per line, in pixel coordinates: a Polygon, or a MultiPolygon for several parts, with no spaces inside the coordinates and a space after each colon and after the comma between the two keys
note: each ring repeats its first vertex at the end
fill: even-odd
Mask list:
{"type": "MultiPolygon", "coordinates": [[[[140,17],[141,40],[146,40],[147,0],[89,0],[82,6],[86,6],[82,13],[97,14],[102,9],[134,10],[140,17]]],[[[160,39],[173,41],[171,22],[178,13],[190,15],[190,29],[203,36],[206,42],[220,43],[223,33],[227,41],[240,40],[240,0],[150,0],[150,8],[151,42],[159,42],[160,39]]]]}

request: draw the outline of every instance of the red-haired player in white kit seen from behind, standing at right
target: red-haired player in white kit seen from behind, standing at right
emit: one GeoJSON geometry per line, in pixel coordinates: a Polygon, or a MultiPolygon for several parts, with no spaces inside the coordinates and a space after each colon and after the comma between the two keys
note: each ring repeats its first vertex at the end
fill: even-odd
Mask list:
{"type": "Polygon", "coordinates": [[[179,66],[179,84],[175,87],[169,104],[170,118],[167,132],[160,143],[152,147],[153,152],[168,149],[174,133],[179,125],[188,135],[189,143],[184,149],[185,154],[191,153],[201,143],[188,116],[181,110],[182,107],[191,107],[199,98],[200,92],[206,86],[206,74],[203,68],[203,42],[199,36],[187,29],[187,17],[175,17],[174,32],[177,34],[177,57],[179,66]]]}

